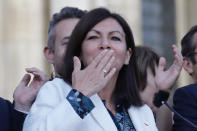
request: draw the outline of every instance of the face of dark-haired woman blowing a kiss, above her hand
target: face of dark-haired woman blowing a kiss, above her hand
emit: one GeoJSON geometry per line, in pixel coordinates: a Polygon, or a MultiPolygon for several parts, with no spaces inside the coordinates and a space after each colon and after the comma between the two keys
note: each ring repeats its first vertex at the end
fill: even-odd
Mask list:
{"type": "Polygon", "coordinates": [[[111,68],[120,70],[128,64],[131,50],[127,50],[125,33],[120,24],[113,18],[107,18],[96,24],[86,35],[82,43],[81,59],[85,66],[104,49],[113,50],[115,61],[111,68]]]}

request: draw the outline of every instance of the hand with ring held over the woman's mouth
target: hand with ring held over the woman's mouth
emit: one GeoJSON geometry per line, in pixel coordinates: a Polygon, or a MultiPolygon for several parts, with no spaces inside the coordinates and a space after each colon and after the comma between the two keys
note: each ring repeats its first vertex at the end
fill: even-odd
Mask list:
{"type": "Polygon", "coordinates": [[[73,60],[72,87],[88,97],[101,91],[116,72],[111,69],[115,60],[113,50],[103,50],[83,70],[79,58],[75,56],[73,60]]]}

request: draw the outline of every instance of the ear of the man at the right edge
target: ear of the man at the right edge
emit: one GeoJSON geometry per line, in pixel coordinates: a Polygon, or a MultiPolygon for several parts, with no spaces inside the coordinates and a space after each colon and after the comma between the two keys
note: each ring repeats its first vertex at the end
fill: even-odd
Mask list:
{"type": "Polygon", "coordinates": [[[194,72],[193,64],[189,58],[186,57],[183,58],[183,68],[189,75],[192,75],[194,72]]]}

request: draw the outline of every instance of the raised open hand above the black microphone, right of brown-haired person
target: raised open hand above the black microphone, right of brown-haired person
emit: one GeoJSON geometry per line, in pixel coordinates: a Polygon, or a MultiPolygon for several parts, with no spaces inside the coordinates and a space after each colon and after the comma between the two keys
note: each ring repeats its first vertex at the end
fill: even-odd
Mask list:
{"type": "Polygon", "coordinates": [[[166,66],[165,58],[161,57],[159,60],[158,68],[156,69],[155,83],[160,90],[167,91],[175,83],[182,69],[183,56],[175,45],[172,45],[174,53],[174,62],[168,68],[164,70],[166,66]]]}

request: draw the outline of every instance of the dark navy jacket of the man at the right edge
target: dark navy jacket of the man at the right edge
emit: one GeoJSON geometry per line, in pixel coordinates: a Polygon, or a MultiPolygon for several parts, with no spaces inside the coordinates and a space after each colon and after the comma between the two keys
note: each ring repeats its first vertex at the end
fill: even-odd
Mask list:
{"type": "MultiPolygon", "coordinates": [[[[173,103],[178,113],[197,125],[197,83],[177,89],[173,103]]],[[[197,131],[177,115],[173,119],[173,131],[197,131]]]]}

